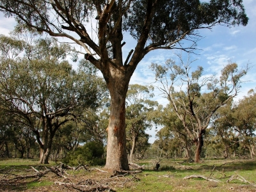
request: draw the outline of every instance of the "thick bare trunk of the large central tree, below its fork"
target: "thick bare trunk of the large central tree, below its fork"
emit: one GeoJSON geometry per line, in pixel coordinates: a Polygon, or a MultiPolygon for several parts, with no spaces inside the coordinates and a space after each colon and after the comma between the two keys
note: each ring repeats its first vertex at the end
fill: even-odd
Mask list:
{"type": "Polygon", "coordinates": [[[109,170],[129,170],[125,136],[125,97],[130,77],[116,68],[111,68],[110,74],[104,75],[111,97],[105,166],[109,170]]]}

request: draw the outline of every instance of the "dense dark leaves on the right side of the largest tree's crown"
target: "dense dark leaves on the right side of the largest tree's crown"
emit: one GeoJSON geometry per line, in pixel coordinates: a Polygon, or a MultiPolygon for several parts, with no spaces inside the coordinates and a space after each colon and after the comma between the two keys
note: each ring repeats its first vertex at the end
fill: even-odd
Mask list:
{"type": "Polygon", "coordinates": [[[246,25],[248,17],[242,1],[214,0],[201,3],[188,1],[135,1],[125,18],[125,29],[138,39],[143,33],[148,6],[152,6],[154,17],[150,24],[150,43],[167,45],[191,34],[195,29],[207,28],[215,24],[246,25]]]}

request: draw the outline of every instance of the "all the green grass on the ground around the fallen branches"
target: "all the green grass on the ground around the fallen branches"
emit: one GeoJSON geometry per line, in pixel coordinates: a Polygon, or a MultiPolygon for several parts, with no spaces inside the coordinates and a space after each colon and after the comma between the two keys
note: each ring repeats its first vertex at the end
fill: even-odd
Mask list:
{"type": "MultiPolygon", "coordinates": [[[[196,164],[183,163],[182,160],[173,161],[173,159],[163,159],[160,162],[160,168],[157,172],[153,170],[156,164],[154,159],[134,163],[140,165],[145,164],[146,169],[136,174],[136,177],[132,177],[131,175],[126,176],[126,181],[121,186],[115,186],[116,191],[256,191],[256,187],[248,185],[241,180],[231,180],[227,183],[227,180],[232,175],[237,174],[249,182],[256,184],[256,160],[205,160],[203,163],[196,164]],[[213,177],[214,179],[220,180],[220,182],[195,178],[184,179],[184,177],[189,175],[213,177]]],[[[51,162],[49,165],[56,164],[51,162]]],[[[20,174],[25,174],[30,166],[38,166],[38,161],[25,159],[0,161],[0,169],[10,166],[15,166],[15,169],[19,168],[20,174]]],[[[106,175],[106,173],[99,173],[97,171],[86,172],[80,170],[76,173],[68,173],[70,173],[70,177],[76,177],[80,181],[86,179],[104,180],[109,178],[109,175],[106,175]]],[[[24,182],[23,187],[15,189],[16,191],[36,191],[44,188],[45,191],[63,191],[63,188],[59,189],[54,186],[54,181],[56,180],[60,180],[60,178],[56,177],[56,175],[49,175],[49,177],[42,177],[38,181],[30,180],[24,182]]]]}

